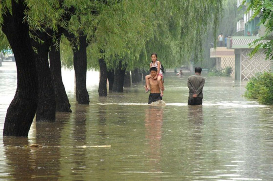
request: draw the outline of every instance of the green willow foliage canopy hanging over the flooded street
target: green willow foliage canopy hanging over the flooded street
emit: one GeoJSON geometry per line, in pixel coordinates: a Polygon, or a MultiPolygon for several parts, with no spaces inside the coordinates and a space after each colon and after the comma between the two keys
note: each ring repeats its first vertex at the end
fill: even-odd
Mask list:
{"type": "MultiPolygon", "coordinates": [[[[11,0],[1,3],[10,8],[11,0]]],[[[104,57],[109,69],[117,59],[128,70],[147,68],[156,52],[165,67],[181,65],[202,53],[202,39],[213,22],[216,35],[222,0],[25,0],[25,18],[32,30],[67,28],[83,32],[89,47],[88,67],[98,69],[104,57]],[[72,19],[62,19],[65,9],[75,7],[72,19]],[[103,52],[103,54],[101,53],[103,52]]],[[[0,18],[1,22],[1,18],[0,18]]],[[[32,36],[35,36],[32,35],[32,36]]],[[[52,35],[55,36],[55,35],[52,35]]],[[[76,42],[77,43],[77,42],[76,42]]],[[[63,65],[71,67],[70,44],[62,40],[63,65]],[[68,53],[68,54],[66,54],[68,53]],[[66,55],[65,55],[66,54],[66,55]]]]}

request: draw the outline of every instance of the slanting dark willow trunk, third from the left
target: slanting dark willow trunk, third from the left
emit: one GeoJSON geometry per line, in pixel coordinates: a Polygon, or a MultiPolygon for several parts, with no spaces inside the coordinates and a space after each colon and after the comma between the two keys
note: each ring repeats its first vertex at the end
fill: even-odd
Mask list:
{"type": "MultiPolygon", "coordinates": [[[[60,43],[60,39],[57,39],[57,44],[60,43]]],[[[70,109],[69,100],[62,82],[61,76],[61,62],[59,48],[56,47],[56,43],[51,42],[49,51],[50,72],[53,81],[56,111],[57,112],[72,112],[70,109]]]]}

